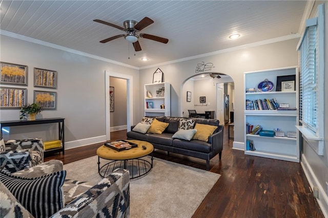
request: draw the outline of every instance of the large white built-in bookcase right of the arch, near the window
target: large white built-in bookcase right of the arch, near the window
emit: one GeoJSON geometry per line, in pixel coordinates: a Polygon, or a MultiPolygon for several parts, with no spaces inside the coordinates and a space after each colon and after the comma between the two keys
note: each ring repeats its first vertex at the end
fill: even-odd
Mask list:
{"type": "Polygon", "coordinates": [[[246,123],[261,125],[263,130],[281,129],[285,137],[262,137],[259,135],[244,134],[244,153],[264,158],[273,158],[284,161],[299,162],[299,138],[288,138],[287,132],[297,132],[296,125],[299,124],[298,111],[298,67],[288,67],[279,69],[270,69],[265,71],[244,73],[244,89],[257,88],[257,85],[268,79],[273,82],[275,87],[272,92],[245,93],[246,99],[276,99],[278,103],[289,103],[290,107],[296,107],[295,111],[277,111],[277,110],[246,110],[244,103],[244,126],[246,123]],[[295,75],[296,91],[276,91],[277,76],[295,75]],[[256,150],[247,150],[247,140],[252,140],[256,150]]]}

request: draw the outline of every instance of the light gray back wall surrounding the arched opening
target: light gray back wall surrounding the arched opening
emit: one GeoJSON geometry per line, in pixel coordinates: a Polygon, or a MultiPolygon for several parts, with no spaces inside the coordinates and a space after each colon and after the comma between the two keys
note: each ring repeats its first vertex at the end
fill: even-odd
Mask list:
{"type": "MultiPolygon", "coordinates": [[[[235,84],[234,107],[235,107],[235,142],[243,143],[244,124],[243,124],[243,105],[244,105],[244,83],[243,73],[273,68],[282,68],[298,65],[298,52],[296,45],[299,39],[291,39],[269,45],[262,45],[252,48],[240,49],[237,51],[172,63],[160,66],[165,75],[165,81],[171,83],[171,116],[180,116],[185,110],[181,101],[181,84],[188,78],[194,76],[197,63],[204,61],[212,62],[215,72],[221,72],[230,76],[235,84]]],[[[157,67],[140,70],[140,86],[151,83],[153,73],[157,67]]],[[[213,83],[211,84],[211,87],[213,83]]],[[[139,91],[142,95],[142,91],[139,91]]],[[[195,97],[195,96],[194,96],[195,97]]],[[[181,100],[182,99],[182,100],[181,100]]],[[[195,99],[195,102],[197,99],[195,99]]],[[[212,102],[211,102],[212,103],[212,102]]],[[[143,108],[140,106],[140,112],[143,108]]],[[[139,120],[142,113],[139,114],[139,120]]]]}

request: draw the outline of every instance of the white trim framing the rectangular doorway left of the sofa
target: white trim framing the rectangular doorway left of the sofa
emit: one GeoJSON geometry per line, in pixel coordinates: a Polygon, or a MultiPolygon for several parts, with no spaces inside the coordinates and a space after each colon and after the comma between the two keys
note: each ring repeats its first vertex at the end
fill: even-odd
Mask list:
{"type": "Polygon", "coordinates": [[[111,139],[110,129],[111,129],[111,116],[110,116],[110,100],[109,100],[109,86],[110,86],[110,77],[116,77],[120,79],[127,80],[127,131],[131,130],[131,124],[133,123],[133,76],[115,73],[110,71],[105,71],[105,119],[106,119],[106,140],[111,139]]]}

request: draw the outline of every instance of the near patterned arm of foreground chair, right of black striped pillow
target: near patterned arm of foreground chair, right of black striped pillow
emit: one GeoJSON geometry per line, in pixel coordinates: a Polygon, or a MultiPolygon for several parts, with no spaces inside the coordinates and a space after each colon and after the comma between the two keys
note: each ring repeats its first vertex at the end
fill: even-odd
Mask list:
{"type": "Polygon", "coordinates": [[[129,217],[130,175],[116,169],[51,217],[129,217]]]}

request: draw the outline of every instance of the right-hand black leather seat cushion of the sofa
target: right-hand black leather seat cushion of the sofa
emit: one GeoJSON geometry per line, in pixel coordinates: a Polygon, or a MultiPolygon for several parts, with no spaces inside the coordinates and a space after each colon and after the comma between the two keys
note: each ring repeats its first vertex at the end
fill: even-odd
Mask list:
{"type": "Polygon", "coordinates": [[[192,139],[191,141],[174,139],[172,142],[173,147],[182,148],[186,150],[194,150],[204,153],[211,152],[211,144],[208,142],[192,139]]]}

